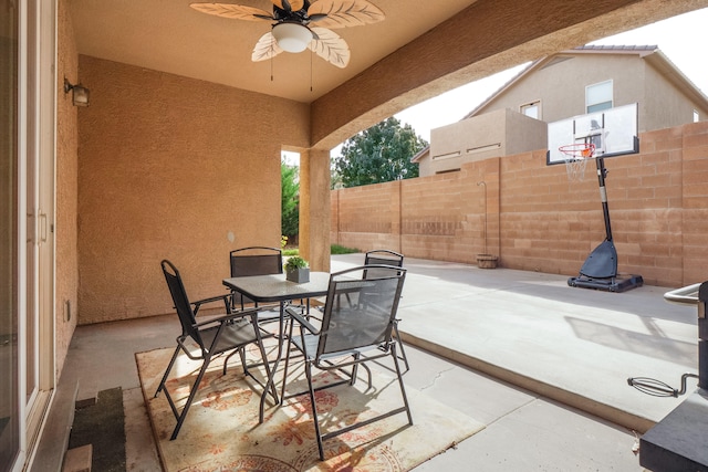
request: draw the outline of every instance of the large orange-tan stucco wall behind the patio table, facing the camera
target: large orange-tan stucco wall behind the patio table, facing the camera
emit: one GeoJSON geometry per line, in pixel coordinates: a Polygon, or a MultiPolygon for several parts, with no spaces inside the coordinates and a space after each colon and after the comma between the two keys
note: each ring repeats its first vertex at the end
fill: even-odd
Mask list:
{"type": "Polygon", "coordinates": [[[81,55],[80,324],[173,313],[159,262],[190,298],[223,293],[229,251],[280,243],[281,145],[304,104],[81,55]]]}

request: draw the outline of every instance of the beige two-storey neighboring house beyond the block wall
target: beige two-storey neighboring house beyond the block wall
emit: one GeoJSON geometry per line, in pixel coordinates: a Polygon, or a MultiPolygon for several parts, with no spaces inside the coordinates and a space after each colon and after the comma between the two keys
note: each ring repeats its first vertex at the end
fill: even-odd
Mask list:
{"type": "Polygon", "coordinates": [[[708,119],[708,97],[657,46],[581,46],[531,63],[460,122],[433,129],[413,161],[424,177],[541,149],[548,123],[632,103],[641,133],[708,119]]]}

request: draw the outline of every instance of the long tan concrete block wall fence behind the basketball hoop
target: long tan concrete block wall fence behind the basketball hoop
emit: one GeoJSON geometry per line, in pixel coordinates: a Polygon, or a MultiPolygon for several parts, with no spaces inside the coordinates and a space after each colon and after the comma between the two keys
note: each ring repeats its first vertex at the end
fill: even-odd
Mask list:
{"type": "MultiPolygon", "coordinates": [[[[679,287],[708,280],[708,122],[644,133],[639,154],[608,157],[605,179],[618,272],[679,287]]],[[[408,258],[577,275],[605,239],[596,165],[582,181],[545,149],[460,171],[339,189],[331,242],[408,258]]]]}

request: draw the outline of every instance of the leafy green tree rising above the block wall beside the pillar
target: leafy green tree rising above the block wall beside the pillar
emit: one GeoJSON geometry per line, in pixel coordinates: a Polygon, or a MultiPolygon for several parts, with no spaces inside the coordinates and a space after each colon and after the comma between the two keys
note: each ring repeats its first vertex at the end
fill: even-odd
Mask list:
{"type": "Polygon", "coordinates": [[[410,159],[427,145],[392,116],[344,143],[342,156],[332,159],[332,182],[357,187],[418,177],[410,159]]]}

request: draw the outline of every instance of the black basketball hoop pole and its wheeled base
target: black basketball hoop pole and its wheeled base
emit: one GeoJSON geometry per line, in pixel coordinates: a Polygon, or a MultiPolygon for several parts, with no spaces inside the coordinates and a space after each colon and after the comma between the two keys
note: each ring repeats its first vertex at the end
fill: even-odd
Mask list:
{"type": "Polygon", "coordinates": [[[617,274],[617,250],[612,242],[612,227],[610,225],[610,208],[607,206],[607,191],[605,189],[605,159],[602,156],[595,158],[597,165],[597,181],[600,183],[600,197],[602,211],[605,217],[605,240],[590,253],[585,263],[580,269],[580,275],[570,277],[568,284],[581,289],[604,290],[606,292],[625,292],[629,289],[642,286],[642,275],[617,274]]]}

